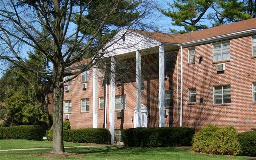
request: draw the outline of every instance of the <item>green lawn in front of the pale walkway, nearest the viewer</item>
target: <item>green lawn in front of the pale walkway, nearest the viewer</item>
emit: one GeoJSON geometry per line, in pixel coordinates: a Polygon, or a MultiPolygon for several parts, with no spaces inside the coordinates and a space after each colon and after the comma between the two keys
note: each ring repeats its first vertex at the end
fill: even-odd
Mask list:
{"type": "MultiPolygon", "coordinates": [[[[0,159],[15,160],[46,160],[46,159],[63,159],[53,157],[42,157],[44,153],[50,150],[30,150],[30,151],[3,151],[0,152],[0,159]]],[[[140,147],[121,147],[121,146],[104,146],[104,147],[89,147],[89,148],[68,148],[66,152],[83,154],[82,156],[68,156],[68,159],[95,159],[95,160],[153,160],[153,159],[170,159],[170,160],[235,160],[246,159],[243,156],[218,156],[202,153],[195,153],[182,148],[140,148],[140,147]]]]}

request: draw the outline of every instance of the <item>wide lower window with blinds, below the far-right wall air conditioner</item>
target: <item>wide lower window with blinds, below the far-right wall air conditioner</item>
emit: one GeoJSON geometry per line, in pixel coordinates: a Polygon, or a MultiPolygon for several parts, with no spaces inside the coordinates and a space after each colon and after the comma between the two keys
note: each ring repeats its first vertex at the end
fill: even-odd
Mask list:
{"type": "Polygon", "coordinates": [[[214,87],[214,104],[231,103],[230,85],[214,87]]]}

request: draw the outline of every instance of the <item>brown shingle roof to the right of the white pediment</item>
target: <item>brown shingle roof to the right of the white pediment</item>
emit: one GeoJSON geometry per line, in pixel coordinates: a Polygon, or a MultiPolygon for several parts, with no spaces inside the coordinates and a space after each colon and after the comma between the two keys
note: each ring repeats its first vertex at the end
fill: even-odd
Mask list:
{"type": "Polygon", "coordinates": [[[198,41],[202,39],[218,37],[221,35],[227,35],[230,33],[236,33],[239,31],[246,31],[249,29],[256,29],[256,18],[251,18],[249,20],[238,21],[226,25],[220,25],[208,29],[203,29],[201,31],[194,31],[185,34],[167,34],[159,32],[147,32],[147,31],[135,31],[144,36],[150,37],[162,43],[186,43],[192,41],[198,41]]]}

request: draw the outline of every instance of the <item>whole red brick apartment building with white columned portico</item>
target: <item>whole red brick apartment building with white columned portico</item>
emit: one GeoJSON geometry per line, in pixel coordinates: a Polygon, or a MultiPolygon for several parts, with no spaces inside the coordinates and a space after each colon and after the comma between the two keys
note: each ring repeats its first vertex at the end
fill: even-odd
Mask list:
{"type": "Polygon", "coordinates": [[[112,143],[133,127],[254,130],[255,35],[256,18],[183,35],[124,29],[108,48],[112,72],[90,68],[65,84],[64,119],[106,127],[112,143]]]}

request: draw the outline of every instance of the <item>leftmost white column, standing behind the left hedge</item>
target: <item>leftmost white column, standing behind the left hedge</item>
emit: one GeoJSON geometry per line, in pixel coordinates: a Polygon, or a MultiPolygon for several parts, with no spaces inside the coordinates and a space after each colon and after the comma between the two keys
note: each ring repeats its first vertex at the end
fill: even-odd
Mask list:
{"type": "Polygon", "coordinates": [[[98,128],[98,69],[93,67],[92,80],[92,128],[98,128]]]}

